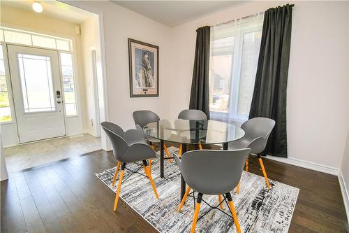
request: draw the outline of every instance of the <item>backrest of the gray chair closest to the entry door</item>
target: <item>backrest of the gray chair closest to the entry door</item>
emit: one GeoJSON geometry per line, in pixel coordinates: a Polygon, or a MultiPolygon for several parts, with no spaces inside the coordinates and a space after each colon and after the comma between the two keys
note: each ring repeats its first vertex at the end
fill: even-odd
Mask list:
{"type": "MultiPolygon", "coordinates": [[[[116,157],[117,160],[120,161],[129,147],[126,141],[123,139],[122,135],[119,135],[117,132],[119,130],[120,133],[121,127],[112,122],[102,122],[101,126],[104,129],[105,134],[107,134],[108,138],[110,139],[110,142],[112,143],[114,157],[116,157]]],[[[121,131],[124,132],[124,130],[122,129],[121,131]]]]}

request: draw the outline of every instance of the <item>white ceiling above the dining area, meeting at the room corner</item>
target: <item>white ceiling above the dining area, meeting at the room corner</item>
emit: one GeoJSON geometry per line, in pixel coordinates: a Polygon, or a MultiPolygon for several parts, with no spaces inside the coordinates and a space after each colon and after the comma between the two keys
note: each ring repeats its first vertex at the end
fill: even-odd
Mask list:
{"type": "Polygon", "coordinates": [[[246,1],[112,1],[157,22],[175,27],[246,1]]]}

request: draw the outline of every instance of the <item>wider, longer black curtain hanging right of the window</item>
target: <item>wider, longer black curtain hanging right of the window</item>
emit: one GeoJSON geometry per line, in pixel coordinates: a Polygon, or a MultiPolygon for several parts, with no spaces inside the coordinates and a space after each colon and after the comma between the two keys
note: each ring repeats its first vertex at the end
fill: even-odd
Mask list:
{"type": "Polygon", "coordinates": [[[276,125],[265,153],[287,157],[286,94],[292,26],[292,6],[265,11],[255,89],[249,118],[272,118],[276,125]]]}

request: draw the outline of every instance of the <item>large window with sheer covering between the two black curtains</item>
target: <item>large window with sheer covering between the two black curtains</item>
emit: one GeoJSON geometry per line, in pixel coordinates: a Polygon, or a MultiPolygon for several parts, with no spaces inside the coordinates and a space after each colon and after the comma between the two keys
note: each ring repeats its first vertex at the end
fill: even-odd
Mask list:
{"type": "Polygon", "coordinates": [[[212,119],[248,119],[257,71],[263,15],[211,27],[209,108],[212,119]]]}

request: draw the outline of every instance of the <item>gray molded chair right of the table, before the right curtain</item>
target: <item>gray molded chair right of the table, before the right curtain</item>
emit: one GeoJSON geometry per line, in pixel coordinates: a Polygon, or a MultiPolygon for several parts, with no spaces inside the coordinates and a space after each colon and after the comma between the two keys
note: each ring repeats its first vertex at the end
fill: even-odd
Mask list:
{"type": "MultiPolygon", "coordinates": [[[[260,153],[265,150],[267,146],[267,141],[272,129],[274,128],[275,120],[269,118],[252,118],[247,120],[242,124],[242,129],[245,131],[245,136],[232,143],[228,144],[229,150],[236,150],[241,148],[251,148],[251,155],[256,155],[260,163],[260,168],[262,169],[263,176],[265,178],[265,183],[270,189],[270,184],[268,181],[267,172],[260,157],[260,153]]],[[[248,159],[246,160],[246,171],[248,171],[248,159]]]]}

